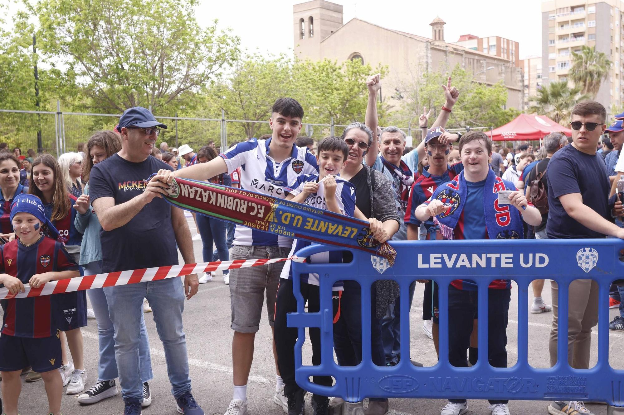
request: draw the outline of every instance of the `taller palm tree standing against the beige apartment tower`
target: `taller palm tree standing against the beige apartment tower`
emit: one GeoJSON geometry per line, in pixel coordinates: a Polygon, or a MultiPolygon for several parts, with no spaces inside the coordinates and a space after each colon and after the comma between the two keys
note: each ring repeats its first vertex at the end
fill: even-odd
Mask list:
{"type": "Polygon", "coordinates": [[[570,79],[581,88],[582,93],[594,98],[602,81],[607,79],[611,64],[607,54],[597,52],[595,46],[583,46],[579,53],[572,52],[570,79]]]}

